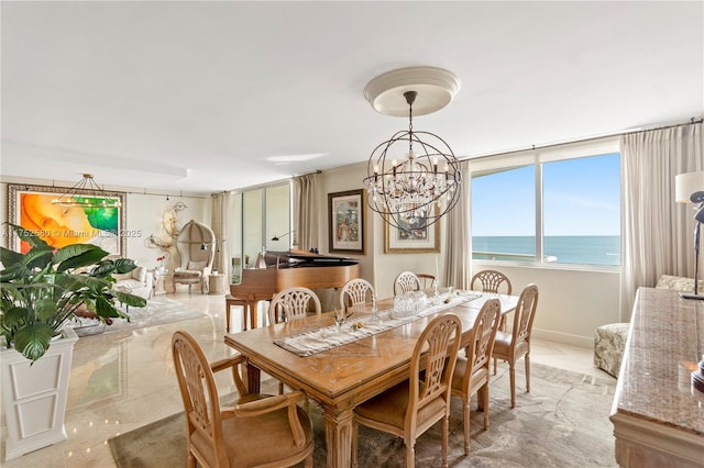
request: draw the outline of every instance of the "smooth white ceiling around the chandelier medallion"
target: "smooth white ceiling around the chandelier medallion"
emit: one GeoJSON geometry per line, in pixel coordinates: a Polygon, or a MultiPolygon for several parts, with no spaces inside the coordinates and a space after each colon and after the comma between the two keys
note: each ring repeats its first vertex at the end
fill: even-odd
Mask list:
{"type": "Polygon", "coordinates": [[[459,157],[704,114],[702,1],[0,8],[3,178],[217,192],[363,161],[407,127],[364,86],[407,66],[460,78],[414,120],[459,157]]]}

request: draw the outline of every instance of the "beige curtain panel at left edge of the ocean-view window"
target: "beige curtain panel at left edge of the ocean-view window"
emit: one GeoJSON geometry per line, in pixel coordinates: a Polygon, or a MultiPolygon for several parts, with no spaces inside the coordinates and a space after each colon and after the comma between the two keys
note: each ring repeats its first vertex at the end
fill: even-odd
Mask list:
{"type": "Polygon", "coordinates": [[[470,163],[461,161],[460,199],[446,215],[444,281],[440,285],[469,289],[472,268],[472,236],[470,235],[470,163]]]}

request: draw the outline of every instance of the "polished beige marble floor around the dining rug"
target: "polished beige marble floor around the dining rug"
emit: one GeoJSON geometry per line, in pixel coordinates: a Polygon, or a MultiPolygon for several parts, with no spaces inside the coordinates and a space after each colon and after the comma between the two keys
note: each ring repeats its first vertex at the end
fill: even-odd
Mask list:
{"type": "MultiPolygon", "coordinates": [[[[183,410],[170,356],[170,336],[177,330],[193,334],[209,359],[228,356],[224,345],[223,296],[168,294],[205,313],[200,319],[84,337],[74,349],[66,432],[68,439],[0,465],[4,468],[114,467],[108,439],[183,410]]],[[[232,330],[241,328],[241,309],[233,309],[232,330]]],[[[609,378],[594,368],[592,349],[535,341],[534,363],[609,378]]],[[[227,374],[227,372],[223,372],[227,374]]],[[[221,376],[221,393],[234,391],[221,376]]],[[[2,414],[4,434],[4,414],[2,414]]]]}

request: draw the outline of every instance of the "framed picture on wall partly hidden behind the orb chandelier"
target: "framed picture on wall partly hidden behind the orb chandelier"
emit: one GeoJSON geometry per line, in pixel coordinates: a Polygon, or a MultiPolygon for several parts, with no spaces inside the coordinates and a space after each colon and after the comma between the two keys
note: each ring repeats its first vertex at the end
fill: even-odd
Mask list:
{"type": "Polygon", "coordinates": [[[403,230],[384,223],[386,254],[417,254],[440,252],[440,223],[427,224],[426,218],[404,223],[403,230]]]}

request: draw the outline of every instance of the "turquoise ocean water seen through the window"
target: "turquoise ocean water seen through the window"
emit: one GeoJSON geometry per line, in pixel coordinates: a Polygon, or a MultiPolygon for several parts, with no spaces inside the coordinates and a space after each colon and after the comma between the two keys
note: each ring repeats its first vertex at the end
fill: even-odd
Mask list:
{"type": "MultiPolygon", "coordinates": [[[[544,237],[546,261],[581,265],[620,265],[620,236],[568,235],[544,237]]],[[[473,236],[472,258],[535,261],[534,236],[473,236]]]]}

